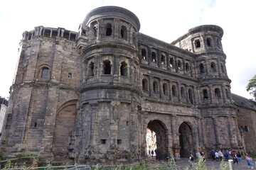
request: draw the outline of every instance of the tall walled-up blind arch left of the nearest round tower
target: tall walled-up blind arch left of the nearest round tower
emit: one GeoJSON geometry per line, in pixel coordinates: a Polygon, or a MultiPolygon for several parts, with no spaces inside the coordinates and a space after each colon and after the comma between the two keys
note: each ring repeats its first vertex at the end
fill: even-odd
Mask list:
{"type": "Polygon", "coordinates": [[[75,116],[78,100],[63,103],[56,113],[55,128],[53,132],[53,155],[55,160],[68,158],[68,146],[70,145],[69,132],[75,125],[75,116]]]}

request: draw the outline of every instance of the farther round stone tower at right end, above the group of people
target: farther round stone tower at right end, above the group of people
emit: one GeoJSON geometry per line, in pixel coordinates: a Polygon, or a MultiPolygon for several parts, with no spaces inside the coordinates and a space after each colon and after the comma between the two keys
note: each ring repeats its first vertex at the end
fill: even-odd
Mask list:
{"type": "Polygon", "coordinates": [[[240,136],[234,135],[238,128],[230,92],[231,80],[225,69],[222,36],[222,28],[206,25],[191,28],[186,35],[172,42],[173,45],[195,54],[201,122],[207,132],[214,134],[213,137],[207,137],[206,150],[213,145],[216,149],[238,149],[242,145],[240,136]],[[210,127],[209,124],[214,126],[210,127]]]}

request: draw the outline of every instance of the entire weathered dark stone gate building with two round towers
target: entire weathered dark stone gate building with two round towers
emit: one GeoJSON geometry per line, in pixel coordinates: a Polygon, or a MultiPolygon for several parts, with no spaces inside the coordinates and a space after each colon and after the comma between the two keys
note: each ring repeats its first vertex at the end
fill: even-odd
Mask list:
{"type": "Polygon", "coordinates": [[[203,149],[242,149],[223,29],[198,26],[166,43],[139,33],[137,16],[105,6],[78,32],[23,33],[1,141],[4,157],[37,154],[83,164],[128,164],[203,149]]]}

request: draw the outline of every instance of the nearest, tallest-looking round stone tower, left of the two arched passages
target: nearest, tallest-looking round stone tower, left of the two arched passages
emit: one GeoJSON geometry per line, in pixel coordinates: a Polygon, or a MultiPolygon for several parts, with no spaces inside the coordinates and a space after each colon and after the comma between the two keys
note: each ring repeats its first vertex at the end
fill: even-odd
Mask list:
{"type": "Polygon", "coordinates": [[[111,165],[142,158],[139,27],[134,13],[117,6],[90,11],[80,25],[82,84],[70,144],[77,162],[111,165]]]}

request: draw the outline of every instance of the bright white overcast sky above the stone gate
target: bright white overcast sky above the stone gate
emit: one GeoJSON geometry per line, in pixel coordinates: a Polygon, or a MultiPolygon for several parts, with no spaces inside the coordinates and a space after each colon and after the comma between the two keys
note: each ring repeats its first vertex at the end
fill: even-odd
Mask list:
{"type": "Polygon", "coordinates": [[[256,74],[255,0],[0,1],[0,96],[9,97],[23,31],[36,26],[78,31],[87,13],[100,6],[127,8],[139,18],[140,33],[168,43],[196,26],[220,26],[231,92],[252,98],[246,85],[256,74]]]}

